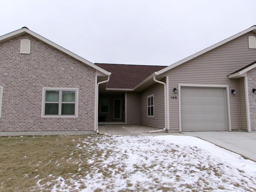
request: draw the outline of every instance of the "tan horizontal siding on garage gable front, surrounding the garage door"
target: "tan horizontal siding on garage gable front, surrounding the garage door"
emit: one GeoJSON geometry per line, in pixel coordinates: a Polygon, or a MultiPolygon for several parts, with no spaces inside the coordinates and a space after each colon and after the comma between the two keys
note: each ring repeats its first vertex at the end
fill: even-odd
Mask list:
{"type": "Polygon", "coordinates": [[[256,60],[256,50],[248,48],[251,35],[255,34],[244,34],[163,74],[169,76],[170,129],[179,129],[178,99],[171,99],[178,97],[173,93],[178,84],[228,85],[231,128],[240,129],[238,95],[231,94],[232,89],[238,90],[238,84],[227,75],[256,60]]]}

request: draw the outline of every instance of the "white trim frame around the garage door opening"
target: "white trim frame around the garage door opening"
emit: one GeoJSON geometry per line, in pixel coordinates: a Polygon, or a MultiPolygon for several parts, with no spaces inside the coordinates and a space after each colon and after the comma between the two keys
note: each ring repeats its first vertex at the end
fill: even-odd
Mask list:
{"type": "Polygon", "coordinates": [[[229,86],[228,85],[213,85],[213,84],[178,84],[179,90],[179,130],[182,132],[182,118],[181,118],[181,95],[182,95],[182,87],[205,87],[205,88],[225,88],[225,100],[226,100],[226,122],[227,129],[231,131],[231,119],[230,119],[230,101],[229,101],[229,86]]]}

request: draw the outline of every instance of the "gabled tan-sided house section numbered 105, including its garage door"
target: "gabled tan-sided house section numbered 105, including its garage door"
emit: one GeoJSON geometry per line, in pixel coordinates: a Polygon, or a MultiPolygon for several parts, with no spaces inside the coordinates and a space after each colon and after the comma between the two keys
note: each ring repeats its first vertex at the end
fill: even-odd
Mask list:
{"type": "MultiPolygon", "coordinates": [[[[256,60],[256,49],[250,48],[248,41],[249,37],[256,36],[255,30],[253,26],[157,72],[169,77],[170,129],[202,131],[246,128],[245,88],[239,89],[239,80],[228,75],[256,60]],[[178,94],[174,94],[174,88],[178,88],[178,94]],[[237,94],[232,94],[232,90],[237,94]],[[177,96],[177,99],[173,99],[173,96],[177,96]],[[225,119],[220,116],[225,116],[225,119]],[[221,128],[225,124],[225,128],[221,128]]],[[[249,127],[247,131],[250,131],[249,127]]]]}

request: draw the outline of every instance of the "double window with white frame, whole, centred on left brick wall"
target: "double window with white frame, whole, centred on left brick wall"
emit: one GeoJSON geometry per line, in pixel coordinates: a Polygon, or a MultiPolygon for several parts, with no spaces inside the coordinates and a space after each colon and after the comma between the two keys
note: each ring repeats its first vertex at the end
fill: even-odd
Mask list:
{"type": "Polygon", "coordinates": [[[78,88],[43,88],[42,117],[78,117],[78,88]]]}

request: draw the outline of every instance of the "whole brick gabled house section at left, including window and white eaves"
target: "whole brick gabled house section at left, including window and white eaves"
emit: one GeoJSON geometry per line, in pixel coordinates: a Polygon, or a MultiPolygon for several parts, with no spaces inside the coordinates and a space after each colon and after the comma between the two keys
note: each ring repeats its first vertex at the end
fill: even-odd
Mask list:
{"type": "Polygon", "coordinates": [[[96,82],[107,76],[27,28],[1,36],[0,134],[94,132],[96,82]]]}

